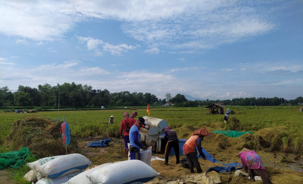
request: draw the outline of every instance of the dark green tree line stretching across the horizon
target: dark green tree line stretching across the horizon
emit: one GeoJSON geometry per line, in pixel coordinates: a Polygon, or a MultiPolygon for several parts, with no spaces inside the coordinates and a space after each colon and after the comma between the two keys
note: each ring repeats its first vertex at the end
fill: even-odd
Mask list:
{"type": "Polygon", "coordinates": [[[197,107],[207,106],[213,103],[224,105],[261,105],[275,106],[290,103],[296,105],[303,102],[303,97],[294,100],[284,98],[234,98],[232,100],[187,100],[184,95],[177,94],[172,97],[170,93],[165,99],[157,98],[151,93],[133,92],[109,92],[107,89],[92,89],[92,86],[75,84],[75,82],[51,86],[49,84],[39,85],[38,88],[19,86],[18,90],[12,92],[7,86],[0,88],[0,107],[101,107],[101,106],[146,106],[147,104],[160,106],[166,102],[172,102],[175,107],[197,107]]]}

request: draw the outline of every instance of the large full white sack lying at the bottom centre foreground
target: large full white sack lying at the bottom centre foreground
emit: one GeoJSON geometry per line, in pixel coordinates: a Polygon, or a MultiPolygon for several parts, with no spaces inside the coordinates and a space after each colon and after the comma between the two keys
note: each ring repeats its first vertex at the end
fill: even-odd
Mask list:
{"type": "Polygon", "coordinates": [[[125,160],[94,171],[88,179],[102,184],[141,184],[150,181],[159,173],[141,160],[125,160]],[[130,172],[133,168],[140,172],[130,172]]]}

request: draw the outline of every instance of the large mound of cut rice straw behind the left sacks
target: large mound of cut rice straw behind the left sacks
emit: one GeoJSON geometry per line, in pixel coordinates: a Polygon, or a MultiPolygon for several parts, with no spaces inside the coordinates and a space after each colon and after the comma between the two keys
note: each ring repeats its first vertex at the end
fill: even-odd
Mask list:
{"type": "MultiPolygon", "coordinates": [[[[11,133],[6,137],[5,144],[15,149],[28,147],[39,156],[56,156],[65,154],[65,144],[62,143],[60,128],[63,120],[56,121],[39,115],[20,118],[12,125],[11,133]]],[[[75,153],[78,149],[76,137],[71,135],[67,146],[68,153],[75,153]]]]}

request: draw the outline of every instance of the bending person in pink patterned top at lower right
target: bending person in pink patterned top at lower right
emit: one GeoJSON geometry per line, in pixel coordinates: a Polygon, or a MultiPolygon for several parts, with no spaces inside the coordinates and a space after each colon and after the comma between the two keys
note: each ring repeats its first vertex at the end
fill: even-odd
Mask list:
{"type": "Polygon", "coordinates": [[[250,177],[250,181],[255,181],[254,171],[261,176],[264,184],[271,184],[268,178],[264,163],[259,155],[255,151],[243,148],[238,154],[241,159],[241,164],[246,173],[250,177]]]}

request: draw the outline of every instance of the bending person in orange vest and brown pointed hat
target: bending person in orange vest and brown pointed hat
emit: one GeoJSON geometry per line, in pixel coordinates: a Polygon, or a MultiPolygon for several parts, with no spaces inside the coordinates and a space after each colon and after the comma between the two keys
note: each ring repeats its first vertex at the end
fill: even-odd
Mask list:
{"type": "Polygon", "coordinates": [[[206,130],[205,127],[195,130],[192,133],[192,136],[185,142],[183,145],[183,153],[186,156],[186,160],[190,169],[191,173],[195,173],[194,166],[197,169],[197,173],[202,173],[202,169],[200,166],[200,163],[198,161],[197,153],[195,148],[198,148],[198,151],[203,158],[203,160],[206,160],[206,156],[202,151],[201,142],[203,140],[203,137],[211,136],[211,134],[206,130]]]}

